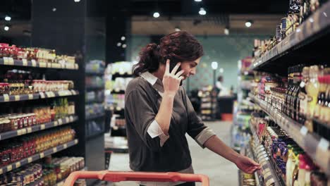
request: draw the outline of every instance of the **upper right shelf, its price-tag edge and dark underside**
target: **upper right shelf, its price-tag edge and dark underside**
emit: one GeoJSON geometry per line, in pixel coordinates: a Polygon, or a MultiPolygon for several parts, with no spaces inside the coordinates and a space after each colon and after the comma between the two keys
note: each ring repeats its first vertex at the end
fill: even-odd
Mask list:
{"type": "Polygon", "coordinates": [[[250,70],[286,74],[289,66],[296,63],[314,63],[329,61],[326,54],[327,41],[330,39],[329,27],[330,1],[322,5],[295,32],[265,52],[252,64],[250,70]]]}

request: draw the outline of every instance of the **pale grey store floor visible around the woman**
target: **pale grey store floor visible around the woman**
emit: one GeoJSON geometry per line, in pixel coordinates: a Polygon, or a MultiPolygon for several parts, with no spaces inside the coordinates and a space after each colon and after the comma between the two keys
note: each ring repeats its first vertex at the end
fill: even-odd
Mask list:
{"type": "MultiPolygon", "coordinates": [[[[227,145],[229,144],[231,123],[219,121],[205,123],[216,132],[216,135],[221,140],[224,140],[227,145]]],[[[202,149],[191,137],[188,136],[187,138],[195,173],[208,175],[210,185],[212,186],[238,185],[238,168],[233,163],[221,158],[208,149],[202,149]]],[[[110,170],[129,171],[128,154],[112,154],[110,170]]],[[[119,182],[114,185],[136,186],[137,184],[135,182],[119,182]]]]}

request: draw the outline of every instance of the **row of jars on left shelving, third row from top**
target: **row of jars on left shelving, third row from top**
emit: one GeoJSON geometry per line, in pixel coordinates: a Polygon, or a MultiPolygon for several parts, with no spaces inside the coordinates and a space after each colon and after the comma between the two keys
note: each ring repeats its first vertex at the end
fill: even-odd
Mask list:
{"type": "Polygon", "coordinates": [[[42,104],[0,110],[0,132],[7,132],[73,116],[75,103],[63,98],[55,99],[50,106],[42,104]]]}

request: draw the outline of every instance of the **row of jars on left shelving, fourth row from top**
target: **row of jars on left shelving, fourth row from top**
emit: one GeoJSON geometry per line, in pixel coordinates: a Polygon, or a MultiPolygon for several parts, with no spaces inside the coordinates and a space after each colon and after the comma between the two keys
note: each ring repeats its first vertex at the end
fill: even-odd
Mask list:
{"type": "Polygon", "coordinates": [[[20,161],[34,154],[40,153],[59,144],[70,142],[75,138],[75,130],[66,127],[37,135],[29,135],[2,143],[0,147],[0,167],[20,161]]]}

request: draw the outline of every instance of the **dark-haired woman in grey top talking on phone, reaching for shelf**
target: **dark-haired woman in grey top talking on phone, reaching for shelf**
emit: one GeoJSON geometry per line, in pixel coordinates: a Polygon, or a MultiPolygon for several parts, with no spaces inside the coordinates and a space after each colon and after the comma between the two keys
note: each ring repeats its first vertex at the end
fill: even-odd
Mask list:
{"type": "MultiPolygon", "coordinates": [[[[188,32],[173,32],[160,45],[148,44],[133,68],[125,94],[125,117],[133,171],[193,173],[185,133],[216,154],[252,173],[259,164],[227,147],[197,117],[181,81],[195,75],[203,55],[202,45],[188,32]],[[170,63],[178,62],[173,70],[170,63]],[[178,70],[178,69],[182,70],[178,70]]],[[[174,63],[175,64],[175,63],[174,63]]],[[[173,67],[173,66],[172,66],[173,67]]],[[[141,185],[156,185],[141,182],[141,185]]],[[[194,182],[166,182],[157,185],[195,185],[194,182]]]]}

